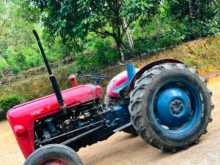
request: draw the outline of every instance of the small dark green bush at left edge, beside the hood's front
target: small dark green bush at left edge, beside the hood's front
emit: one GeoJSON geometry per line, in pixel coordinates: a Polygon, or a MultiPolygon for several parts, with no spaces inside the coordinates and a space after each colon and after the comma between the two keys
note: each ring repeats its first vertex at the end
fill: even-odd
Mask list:
{"type": "Polygon", "coordinates": [[[20,104],[23,98],[16,95],[9,95],[0,98],[0,120],[6,119],[6,114],[10,108],[20,104]]]}

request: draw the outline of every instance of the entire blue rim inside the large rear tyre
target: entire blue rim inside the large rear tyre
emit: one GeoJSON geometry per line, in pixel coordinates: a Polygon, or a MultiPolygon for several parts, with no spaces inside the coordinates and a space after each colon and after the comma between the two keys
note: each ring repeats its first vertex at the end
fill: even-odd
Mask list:
{"type": "Polygon", "coordinates": [[[183,79],[168,82],[158,90],[151,117],[163,135],[182,139],[197,128],[202,112],[199,88],[183,79]]]}

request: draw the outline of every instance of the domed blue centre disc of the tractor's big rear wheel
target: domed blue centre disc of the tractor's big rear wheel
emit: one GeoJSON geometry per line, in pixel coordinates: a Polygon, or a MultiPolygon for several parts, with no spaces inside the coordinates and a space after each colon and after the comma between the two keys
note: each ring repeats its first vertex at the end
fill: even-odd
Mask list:
{"type": "Polygon", "coordinates": [[[180,88],[162,90],[156,102],[156,116],[162,125],[171,128],[179,127],[191,116],[189,95],[180,88]]]}

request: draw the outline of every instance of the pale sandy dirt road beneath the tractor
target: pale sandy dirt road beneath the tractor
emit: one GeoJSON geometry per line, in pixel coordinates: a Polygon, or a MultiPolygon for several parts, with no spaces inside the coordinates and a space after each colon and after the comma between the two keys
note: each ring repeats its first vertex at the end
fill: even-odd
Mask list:
{"type": "MultiPolygon", "coordinates": [[[[85,165],[219,165],[220,164],[220,80],[211,82],[215,110],[209,133],[201,142],[176,154],[164,154],[139,137],[117,133],[79,151],[85,165]]],[[[24,159],[6,122],[0,123],[0,164],[21,165],[24,159]]]]}

